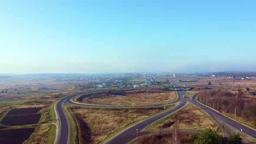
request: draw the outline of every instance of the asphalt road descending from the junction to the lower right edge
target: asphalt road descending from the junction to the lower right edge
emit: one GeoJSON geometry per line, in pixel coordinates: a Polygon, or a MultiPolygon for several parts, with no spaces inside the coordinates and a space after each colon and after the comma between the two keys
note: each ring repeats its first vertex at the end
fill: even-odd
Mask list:
{"type": "MultiPolygon", "coordinates": [[[[196,100],[197,95],[194,95],[192,97],[192,100],[190,98],[187,98],[191,103],[193,103],[194,105],[198,105],[199,108],[201,108],[202,110],[206,111],[210,116],[212,116],[214,119],[219,118],[221,121],[224,121],[225,123],[230,124],[231,126],[233,126],[234,128],[236,128],[237,130],[241,131],[241,129],[243,130],[244,133],[256,138],[256,130],[253,130],[252,128],[248,128],[246,126],[244,126],[243,124],[240,124],[237,121],[234,121],[230,118],[227,118],[225,116],[223,116],[222,114],[220,114],[217,111],[214,111],[210,108],[207,108],[207,106],[201,104],[200,102],[197,103],[196,100]]],[[[222,124],[220,124],[222,125],[222,124]]]]}

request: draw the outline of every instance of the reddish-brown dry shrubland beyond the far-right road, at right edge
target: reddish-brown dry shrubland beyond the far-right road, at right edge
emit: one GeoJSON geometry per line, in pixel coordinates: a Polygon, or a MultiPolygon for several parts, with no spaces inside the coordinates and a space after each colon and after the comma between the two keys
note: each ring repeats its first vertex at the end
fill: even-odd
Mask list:
{"type": "Polygon", "coordinates": [[[229,113],[230,115],[235,113],[236,117],[241,118],[243,121],[249,122],[256,126],[256,96],[252,95],[255,89],[246,91],[245,88],[239,89],[212,89],[202,91],[198,94],[198,99],[203,104],[217,109],[217,103],[219,103],[219,111],[229,113]]]}

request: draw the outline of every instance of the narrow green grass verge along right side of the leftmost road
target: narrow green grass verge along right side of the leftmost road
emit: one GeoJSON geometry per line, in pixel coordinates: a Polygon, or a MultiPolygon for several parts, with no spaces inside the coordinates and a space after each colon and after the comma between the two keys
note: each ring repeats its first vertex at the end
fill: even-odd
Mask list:
{"type": "Polygon", "coordinates": [[[79,138],[78,138],[78,128],[75,122],[75,118],[69,111],[69,106],[70,104],[63,104],[63,110],[67,116],[67,119],[69,120],[69,144],[78,144],[79,143],[79,138]]]}

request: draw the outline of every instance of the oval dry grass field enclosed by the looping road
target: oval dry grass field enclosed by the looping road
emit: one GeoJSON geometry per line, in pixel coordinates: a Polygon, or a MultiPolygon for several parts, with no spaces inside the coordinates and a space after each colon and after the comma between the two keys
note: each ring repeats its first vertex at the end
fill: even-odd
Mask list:
{"type": "Polygon", "coordinates": [[[151,105],[174,101],[176,95],[173,91],[163,89],[139,89],[123,92],[103,92],[89,95],[82,99],[82,103],[99,105],[151,105]]]}

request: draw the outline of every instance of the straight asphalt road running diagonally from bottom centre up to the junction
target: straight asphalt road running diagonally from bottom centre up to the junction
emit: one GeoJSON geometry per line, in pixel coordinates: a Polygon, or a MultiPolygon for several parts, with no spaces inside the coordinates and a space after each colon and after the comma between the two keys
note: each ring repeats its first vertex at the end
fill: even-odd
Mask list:
{"type": "Polygon", "coordinates": [[[182,108],[186,104],[186,98],[183,98],[183,95],[185,95],[185,94],[183,91],[177,91],[177,92],[178,92],[178,95],[179,95],[180,101],[181,101],[180,105],[177,105],[176,107],[174,107],[173,109],[171,109],[169,111],[165,111],[164,113],[161,113],[161,114],[156,115],[152,118],[149,118],[141,123],[131,126],[130,128],[121,132],[119,135],[115,136],[114,138],[112,138],[110,141],[107,141],[106,143],[107,144],[126,144],[129,141],[131,141],[132,139],[137,137],[136,129],[138,129],[138,132],[139,132],[143,128],[147,127],[149,124],[153,123],[154,121],[157,121],[157,120],[163,118],[164,116],[167,116],[167,115],[173,113],[174,111],[177,111],[178,109],[182,108]]]}

